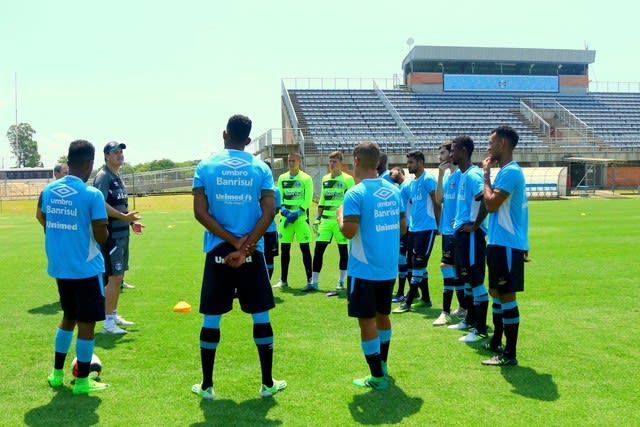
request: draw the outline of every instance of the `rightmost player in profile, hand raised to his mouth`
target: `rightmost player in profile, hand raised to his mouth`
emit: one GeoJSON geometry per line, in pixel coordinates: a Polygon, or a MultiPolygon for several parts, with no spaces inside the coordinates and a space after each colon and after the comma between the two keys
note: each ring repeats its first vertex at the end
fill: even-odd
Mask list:
{"type": "Polygon", "coordinates": [[[524,291],[524,263],[529,250],[529,208],[524,174],[513,160],[518,139],[518,133],[510,126],[493,129],[489,137],[489,156],[482,162],[483,201],[490,213],[487,265],[494,324],[493,336],[485,348],[498,353],[482,361],[483,365],[518,364],[516,345],[520,313],[516,295],[524,291]],[[500,171],[491,185],[491,167],[496,164],[500,171]],[[504,348],[503,333],[506,337],[504,348]]]}

